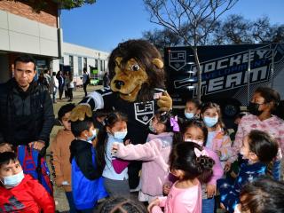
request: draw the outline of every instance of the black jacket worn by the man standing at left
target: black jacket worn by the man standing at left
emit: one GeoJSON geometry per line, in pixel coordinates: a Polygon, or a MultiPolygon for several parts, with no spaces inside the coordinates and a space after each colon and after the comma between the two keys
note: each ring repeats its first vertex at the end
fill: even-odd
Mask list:
{"type": "Polygon", "coordinates": [[[47,147],[54,121],[45,87],[33,82],[22,91],[13,78],[0,84],[0,142],[19,146],[43,140],[47,147]]]}

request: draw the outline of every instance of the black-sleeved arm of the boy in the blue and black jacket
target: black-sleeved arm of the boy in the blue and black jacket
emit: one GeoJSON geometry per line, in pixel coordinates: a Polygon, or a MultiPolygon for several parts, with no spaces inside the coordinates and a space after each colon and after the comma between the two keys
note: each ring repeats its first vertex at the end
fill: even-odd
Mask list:
{"type": "Polygon", "coordinates": [[[96,170],[92,163],[91,150],[86,149],[75,156],[75,161],[83,173],[84,177],[90,180],[98,179],[101,177],[102,170],[96,170]]]}

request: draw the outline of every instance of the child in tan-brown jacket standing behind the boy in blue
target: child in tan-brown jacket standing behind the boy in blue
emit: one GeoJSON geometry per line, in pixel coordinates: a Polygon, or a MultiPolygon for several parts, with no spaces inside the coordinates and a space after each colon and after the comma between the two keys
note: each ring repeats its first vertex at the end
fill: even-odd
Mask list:
{"type": "Polygon", "coordinates": [[[75,139],[71,132],[70,114],[75,104],[67,104],[61,106],[58,113],[59,122],[64,127],[64,130],[59,130],[51,143],[51,168],[53,177],[57,186],[63,186],[67,201],[69,203],[69,212],[76,212],[73,201],[71,188],[71,164],[70,150],[72,140],[75,139]]]}

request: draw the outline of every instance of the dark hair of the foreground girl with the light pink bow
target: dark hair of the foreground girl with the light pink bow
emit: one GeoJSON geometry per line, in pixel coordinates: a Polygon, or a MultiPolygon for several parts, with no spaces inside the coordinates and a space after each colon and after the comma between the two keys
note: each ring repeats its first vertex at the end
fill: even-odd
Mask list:
{"type": "Polygon", "coordinates": [[[198,177],[202,183],[207,183],[213,174],[214,160],[208,156],[197,157],[194,148],[202,151],[202,147],[193,143],[177,143],[170,152],[170,170],[183,170],[184,179],[198,177]]]}

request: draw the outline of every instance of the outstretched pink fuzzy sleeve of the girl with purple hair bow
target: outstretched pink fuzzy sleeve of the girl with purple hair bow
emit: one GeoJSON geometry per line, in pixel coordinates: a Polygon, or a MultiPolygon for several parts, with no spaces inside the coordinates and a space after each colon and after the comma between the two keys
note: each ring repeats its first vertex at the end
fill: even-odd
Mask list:
{"type": "Polygon", "coordinates": [[[159,139],[151,140],[144,145],[117,145],[115,156],[124,160],[153,161],[160,155],[162,144],[159,139]]]}

